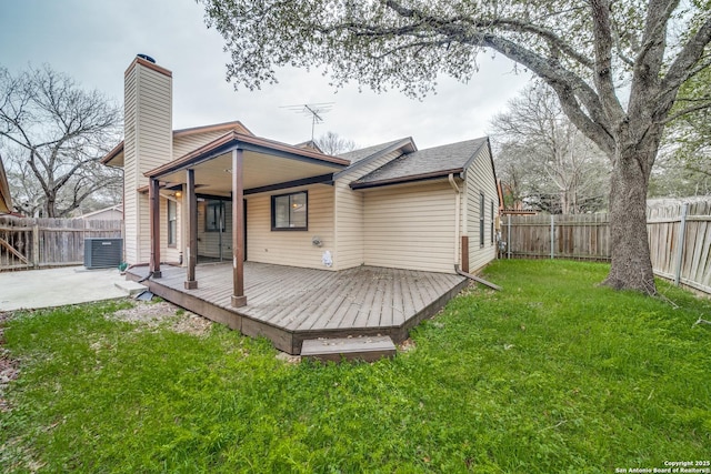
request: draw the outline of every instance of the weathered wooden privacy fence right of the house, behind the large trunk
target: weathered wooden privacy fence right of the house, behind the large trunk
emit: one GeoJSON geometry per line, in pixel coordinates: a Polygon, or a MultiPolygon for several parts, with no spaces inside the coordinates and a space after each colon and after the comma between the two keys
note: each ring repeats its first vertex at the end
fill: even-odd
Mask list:
{"type": "MultiPolygon", "coordinates": [[[[652,268],[659,276],[711,293],[711,200],[648,210],[652,268]]],[[[504,215],[500,256],[609,261],[608,214],[504,215]]]]}

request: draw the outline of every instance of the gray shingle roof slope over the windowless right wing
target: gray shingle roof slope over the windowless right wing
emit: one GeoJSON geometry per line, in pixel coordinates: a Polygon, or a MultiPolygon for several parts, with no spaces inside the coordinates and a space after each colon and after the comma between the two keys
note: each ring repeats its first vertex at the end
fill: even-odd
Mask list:
{"type": "Polygon", "coordinates": [[[487,141],[488,138],[482,137],[407,153],[353,181],[351,185],[365,188],[377,183],[404,182],[437,173],[463,171],[487,141]]]}

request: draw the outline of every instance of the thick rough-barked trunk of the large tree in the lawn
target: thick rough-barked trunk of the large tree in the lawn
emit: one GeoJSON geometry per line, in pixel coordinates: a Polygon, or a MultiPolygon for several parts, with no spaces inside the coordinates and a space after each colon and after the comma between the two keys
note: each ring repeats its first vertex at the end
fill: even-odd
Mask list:
{"type": "Polygon", "coordinates": [[[618,153],[610,189],[612,265],[604,284],[652,295],[657,286],[647,236],[649,157],[635,148],[618,153]]]}

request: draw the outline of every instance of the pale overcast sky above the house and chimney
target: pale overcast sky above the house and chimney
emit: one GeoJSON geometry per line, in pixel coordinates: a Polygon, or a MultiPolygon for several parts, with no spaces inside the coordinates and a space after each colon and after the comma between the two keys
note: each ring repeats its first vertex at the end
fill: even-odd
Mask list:
{"type": "Polygon", "coordinates": [[[334,102],[316,127],[361,147],[412,137],[420,149],[482,137],[489,120],[530,80],[504,58],[481,57],[468,83],[441,78],[423,101],[352,84],[336,91],[318,71],[283,70],[261,91],[224,80],[229,57],[193,0],[0,0],[0,65],[17,73],[48,63],[123,102],[123,71],[146,53],[173,72],[173,128],[240,120],[259,137],[298,143],[311,121],[284,105],[334,102]]]}

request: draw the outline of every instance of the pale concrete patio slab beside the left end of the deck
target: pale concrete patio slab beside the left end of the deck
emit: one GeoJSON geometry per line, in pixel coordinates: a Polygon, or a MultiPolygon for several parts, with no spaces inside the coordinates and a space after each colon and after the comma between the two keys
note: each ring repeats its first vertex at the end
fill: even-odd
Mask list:
{"type": "MultiPolygon", "coordinates": [[[[117,269],[64,266],[0,273],[0,311],[40,309],[111,300],[134,293],[117,269]]],[[[142,286],[142,285],[139,285],[142,286]]]]}

